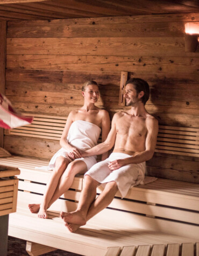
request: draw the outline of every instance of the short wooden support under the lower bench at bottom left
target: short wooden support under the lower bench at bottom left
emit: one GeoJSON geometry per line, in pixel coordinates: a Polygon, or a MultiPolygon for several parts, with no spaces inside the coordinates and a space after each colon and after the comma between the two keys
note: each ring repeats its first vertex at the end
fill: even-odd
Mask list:
{"type": "Polygon", "coordinates": [[[29,255],[37,256],[37,255],[52,252],[55,250],[56,250],[56,248],[53,248],[53,247],[33,243],[31,241],[26,241],[26,252],[29,255]]]}

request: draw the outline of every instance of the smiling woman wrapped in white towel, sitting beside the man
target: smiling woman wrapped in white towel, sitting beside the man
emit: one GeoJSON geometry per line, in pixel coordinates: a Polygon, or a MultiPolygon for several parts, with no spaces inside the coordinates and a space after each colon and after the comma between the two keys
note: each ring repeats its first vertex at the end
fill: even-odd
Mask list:
{"type": "MultiPolygon", "coordinates": [[[[73,183],[76,174],[84,174],[95,163],[96,157],[81,157],[81,151],[94,147],[102,129],[102,141],[110,130],[110,118],[106,110],[95,106],[99,98],[99,88],[95,81],[87,81],[82,86],[83,107],[69,113],[63,130],[61,149],[52,157],[49,165],[53,172],[41,204],[29,204],[32,213],[39,218],[47,218],[47,209],[73,183]]],[[[102,160],[108,153],[102,155],[102,160]]]]}

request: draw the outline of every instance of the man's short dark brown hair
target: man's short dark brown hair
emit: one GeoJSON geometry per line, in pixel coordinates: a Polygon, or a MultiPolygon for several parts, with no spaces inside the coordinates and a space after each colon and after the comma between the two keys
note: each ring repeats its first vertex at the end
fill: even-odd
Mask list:
{"type": "Polygon", "coordinates": [[[141,101],[145,105],[150,96],[150,87],[149,87],[148,83],[141,78],[131,78],[126,81],[125,85],[127,85],[127,84],[134,85],[134,88],[136,89],[137,94],[140,93],[141,91],[144,92],[143,97],[141,97],[141,101]]]}

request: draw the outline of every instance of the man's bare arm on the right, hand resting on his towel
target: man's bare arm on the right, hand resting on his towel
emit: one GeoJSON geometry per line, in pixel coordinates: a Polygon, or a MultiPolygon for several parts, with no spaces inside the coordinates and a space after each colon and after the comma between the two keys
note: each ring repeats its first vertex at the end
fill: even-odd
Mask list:
{"type": "Polygon", "coordinates": [[[146,121],[147,135],[145,142],[145,151],[141,151],[135,156],[127,157],[125,159],[119,159],[112,161],[109,164],[110,170],[116,170],[126,164],[142,163],[150,160],[153,157],[155,151],[155,145],[158,135],[158,121],[155,118],[150,118],[146,121]]]}

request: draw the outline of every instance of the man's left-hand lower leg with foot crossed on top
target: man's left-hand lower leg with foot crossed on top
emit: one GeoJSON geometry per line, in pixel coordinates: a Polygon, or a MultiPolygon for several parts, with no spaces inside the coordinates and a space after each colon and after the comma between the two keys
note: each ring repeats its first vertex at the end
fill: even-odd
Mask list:
{"type": "Polygon", "coordinates": [[[61,212],[61,218],[67,223],[86,224],[87,212],[96,198],[96,189],[99,183],[89,175],[84,177],[84,182],[77,210],[69,213],[61,212]]]}

